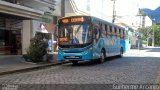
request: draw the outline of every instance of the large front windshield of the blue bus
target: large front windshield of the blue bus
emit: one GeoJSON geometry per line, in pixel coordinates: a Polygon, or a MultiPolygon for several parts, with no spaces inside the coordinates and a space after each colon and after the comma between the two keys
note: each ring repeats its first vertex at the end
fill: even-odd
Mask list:
{"type": "Polygon", "coordinates": [[[59,45],[81,45],[92,41],[89,24],[64,25],[59,27],[59,45]]]}

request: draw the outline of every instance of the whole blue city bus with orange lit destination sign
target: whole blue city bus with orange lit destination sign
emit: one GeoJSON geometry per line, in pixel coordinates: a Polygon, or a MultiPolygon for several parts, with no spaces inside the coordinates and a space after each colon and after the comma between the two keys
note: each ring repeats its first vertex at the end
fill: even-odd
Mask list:
{"type": "Polygon", "coordinates": [[[122,57],[125,29],[93,16],[70,16],[58,20],[58,59],[78,61],[122,57]]]}

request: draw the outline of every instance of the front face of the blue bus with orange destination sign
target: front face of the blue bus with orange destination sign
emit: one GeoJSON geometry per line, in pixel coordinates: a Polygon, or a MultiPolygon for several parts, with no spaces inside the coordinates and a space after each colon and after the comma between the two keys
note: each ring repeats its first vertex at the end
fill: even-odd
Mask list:
{"type": "Polygon", "coordinates": [[[58,21],[58,59],[76,64],[91,60],[92,30],[91,18],[87,16],[65,17],[58,21]]]}

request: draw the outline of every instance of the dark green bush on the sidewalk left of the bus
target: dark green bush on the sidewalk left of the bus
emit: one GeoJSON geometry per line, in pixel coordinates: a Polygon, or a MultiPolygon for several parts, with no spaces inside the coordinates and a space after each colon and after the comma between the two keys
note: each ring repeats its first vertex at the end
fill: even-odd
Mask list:
{"type": "Polygon", "coordinates": [[[42,62],[43,57],[47,55],[47,41],[43,40],[42,36],[36,35],[31,39],[29,48],[27,49],[26,56],[32,62],[42,62]]]}

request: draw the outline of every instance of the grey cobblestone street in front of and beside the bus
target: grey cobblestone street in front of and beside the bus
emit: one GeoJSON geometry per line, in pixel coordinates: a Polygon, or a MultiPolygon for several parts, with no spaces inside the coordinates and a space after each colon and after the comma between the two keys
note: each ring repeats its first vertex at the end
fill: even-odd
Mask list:
{"type": "Polygon", "coordinates": [[[104,84],[158,84],[160,80],[160,47],[135,49],[124,54],[123,58],[114,57],[106,60],[103,64],[80,62],[78,65],[72,65],[67,63],[36,71],[4,75],[0,76],[0,84],[24,85],[22,87],[27,88],[21,88],[24,90],[32,89],[33,85],[40,85],[41,89],[37,90],[44,90],[47,85],[52,87],[50,90],[55,90],[53,86],[55,88],[57,85],[61,89],[56,87],[56,90],[62,90],[62,88],[65,90],[99,90],[99,85],[110,87],[104,84]],[[82,88],[76,85],[85,86],[82,88]],[[72,89],[66,89],[67,87],[72,89]],[[97,87],[99,88],[96,89],[97,87]]]}

